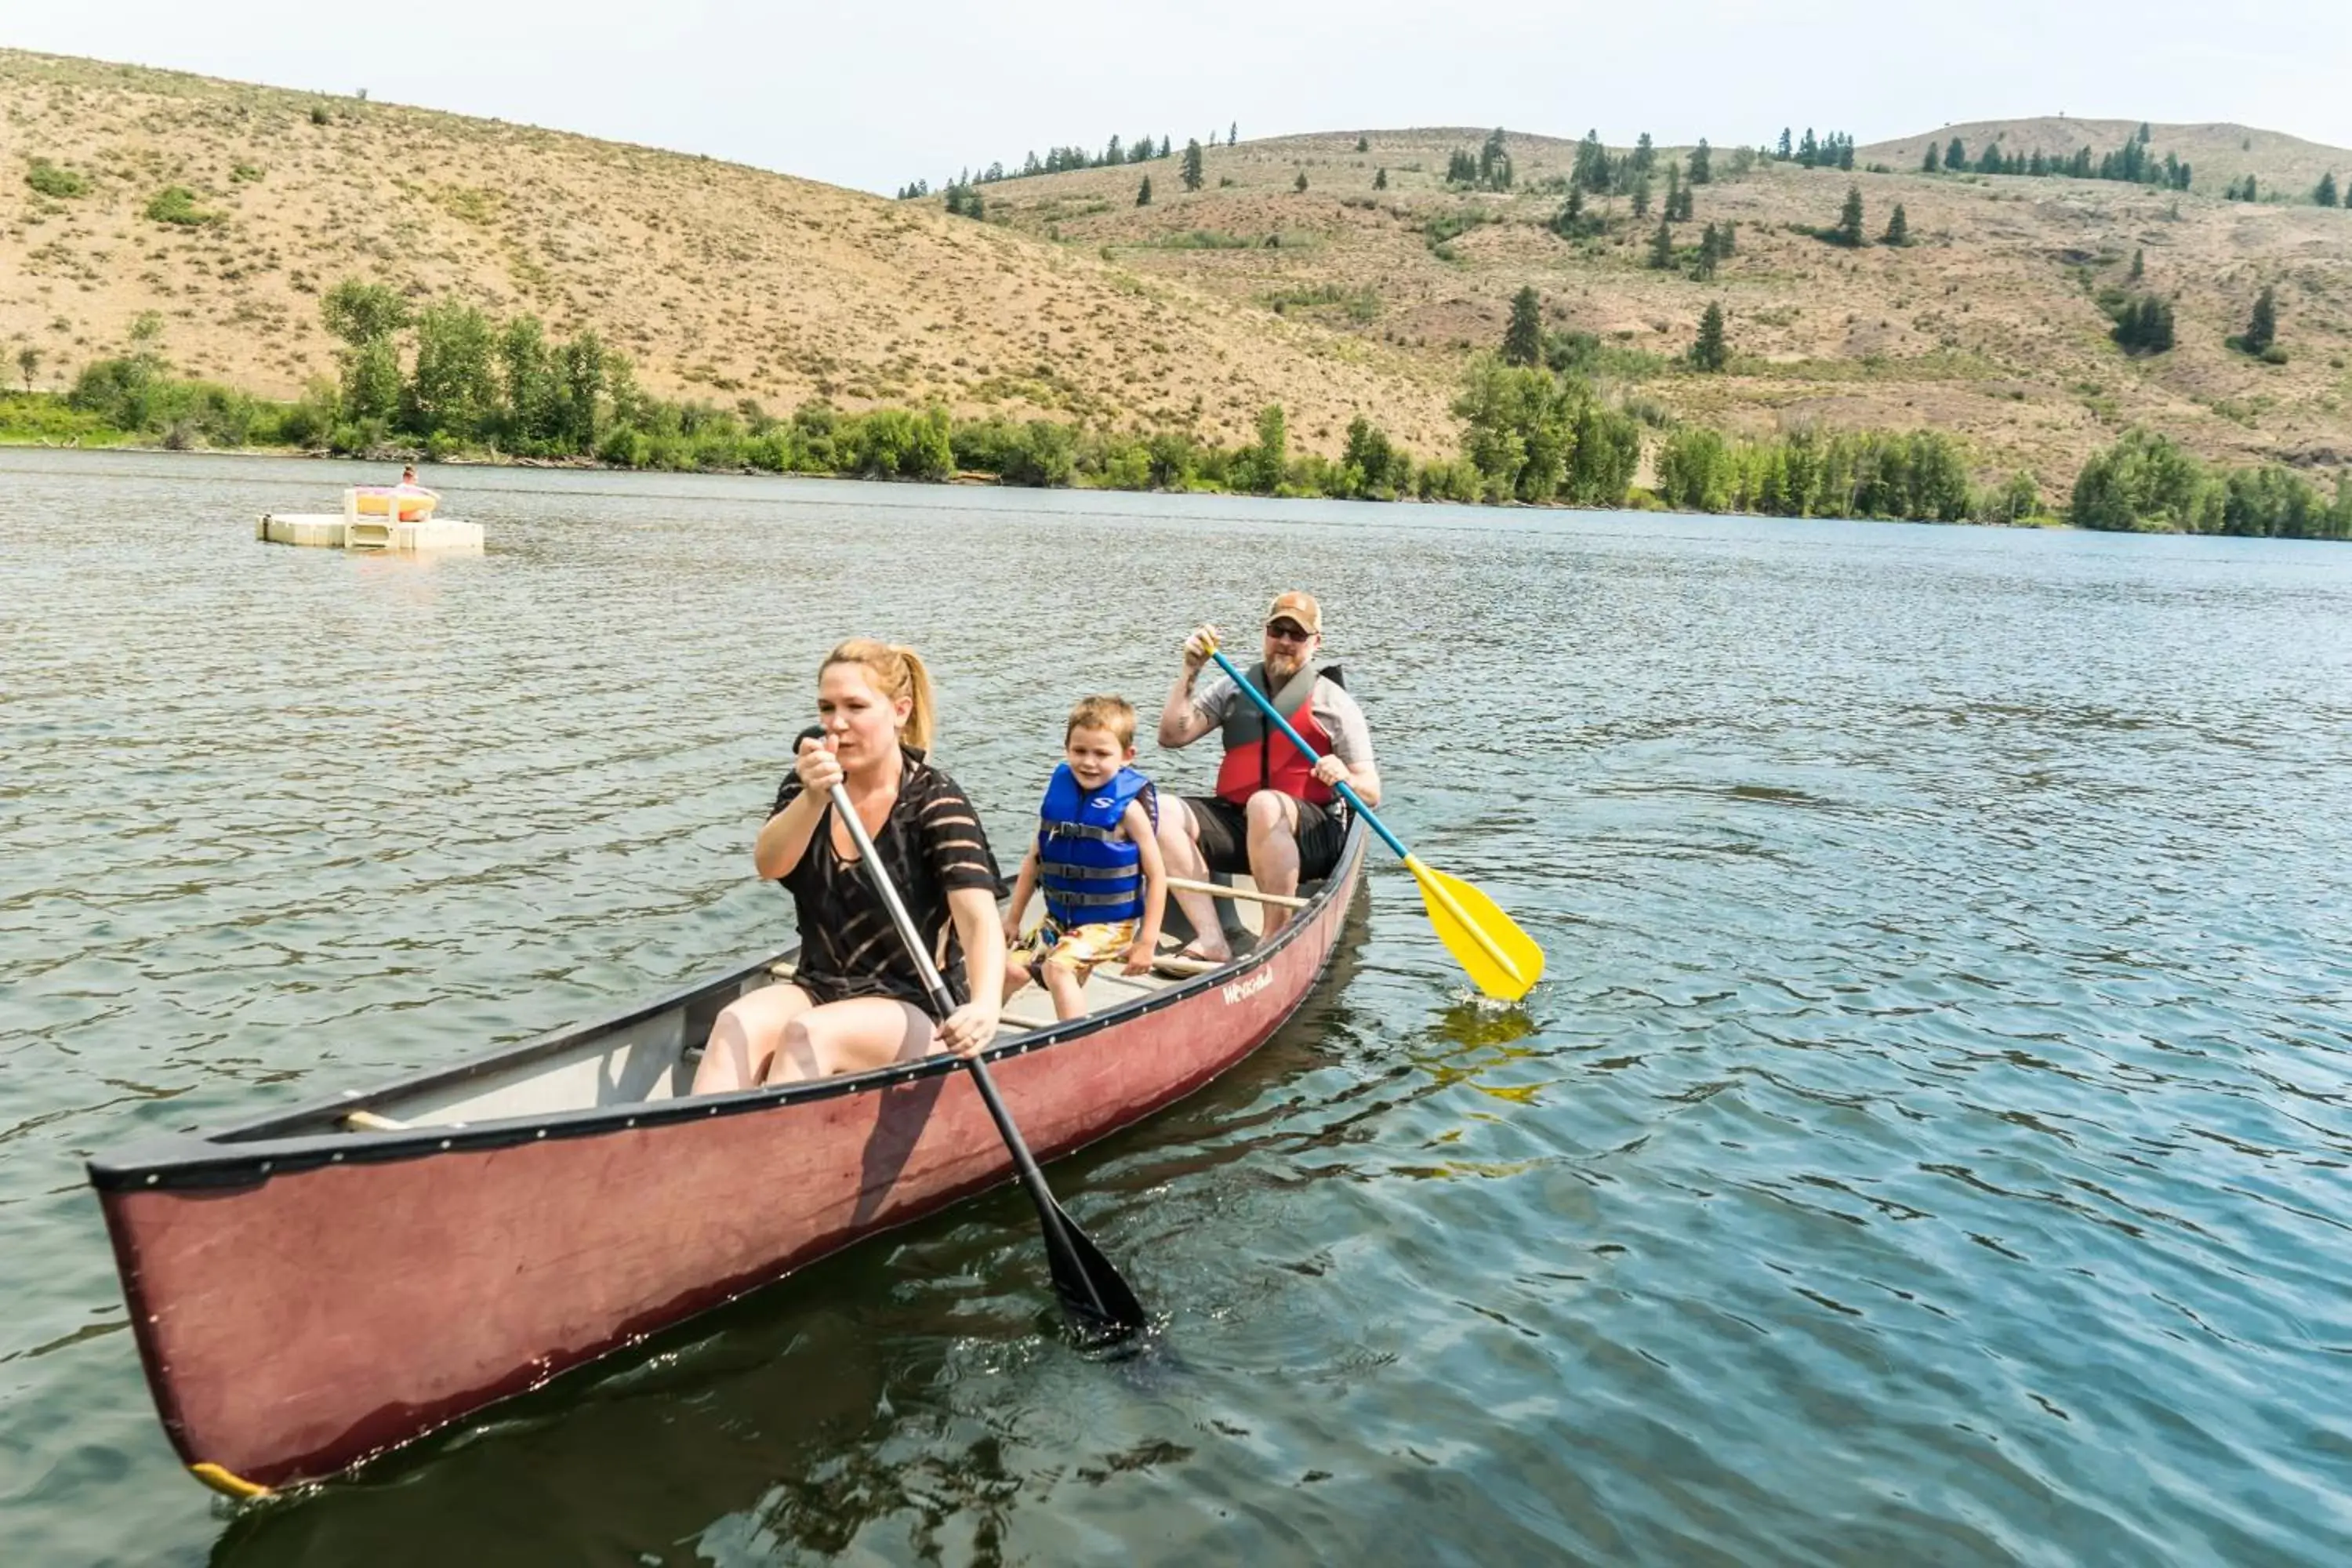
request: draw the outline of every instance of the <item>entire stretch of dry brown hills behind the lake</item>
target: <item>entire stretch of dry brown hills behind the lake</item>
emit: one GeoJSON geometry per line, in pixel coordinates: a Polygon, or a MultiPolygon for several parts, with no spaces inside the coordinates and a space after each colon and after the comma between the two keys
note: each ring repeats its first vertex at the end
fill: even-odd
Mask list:
{"type": "MultiPolygon", "coordinates": [[[[1637,221],[1625,195],[1590,200],[1595,233],[1552,230],[1573,141],[1512,134],[1510,193],[1449,186],[1472,127],[1214,148],[1197,193],[1181,158],[995,181],[983,223],[936,195],[12,52],[0,129],[0,371],[31,346],[38,386],[158,313],[181,371],[292,395],[334,369],[320,294],[362,277],[595,327],[668,397],[938,400],[1225,444],[1279,402],[1301,449],[1334,454],[1362,411],[1432,458],[1456,449],[1468,357],[1534,287],[1555,334],[1588,334],[1578,364],[1651,423],[1945,430],[1980,475],[2025,465],[2051,491],[2136,423],[2227,463],[2352,461],[2352,209],[2307,200],[2324,172],[2352,181],[2352,153],[2227,125],[2152,127],[2150,153],[2194,165],[2183,193],[1917,172],[1929,141],[2105,153],[2131,122],[1940,127],[1860,148],[1853,174],[1717,148],[1670,270],[1649,266],[1656,212],[1637,221]],[[2220,197],[2249,174],[2298,200],[2220,197]],[[1816,237],[1849,183],[1872,240],[1905,207],[1907,247],[1816,237]],[[1738,244],[1698,280],[1708,223],[1738,244]],[[2225,346],[2265,284],[2284,364],[2225,346]],[[2171,353],[2110,341],[2117,289],[2171,301],[2171,353]],[[1684,362],[1710,301],[1724,374],[1684,362]]],[[[1658,200],[1684,153],[1658,150],[1658,200]]]]}

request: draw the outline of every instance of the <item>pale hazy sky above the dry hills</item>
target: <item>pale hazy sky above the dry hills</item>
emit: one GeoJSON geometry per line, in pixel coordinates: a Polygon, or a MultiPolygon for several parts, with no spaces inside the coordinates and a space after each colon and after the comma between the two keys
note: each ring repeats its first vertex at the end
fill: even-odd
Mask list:
{"type": "Polygon", "coordinates": [[[2239,120],[2352,146],[2352,0],[0,0],[0,45],[353,92],[894,190],[1112,132],[1505,125],[1870,143],[2239,120]]]}

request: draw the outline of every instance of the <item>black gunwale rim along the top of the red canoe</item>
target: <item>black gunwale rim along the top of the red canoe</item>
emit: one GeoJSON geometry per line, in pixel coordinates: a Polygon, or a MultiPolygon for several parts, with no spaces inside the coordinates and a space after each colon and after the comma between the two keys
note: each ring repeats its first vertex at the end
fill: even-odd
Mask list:
{"type": "MultiPolygon", "coordinates": [[[[1341,846],[1338,863],[1331,875],[1315,891],[1303,910],[1296,910],[1284,929],[1270,943],[1251,947],[1247,954],[1235,957],[1218,969],[1178,980],[1152,992],[1138,992],[1127,1001],[1117,1001],[1096,1009],[1082,1018],[1058,1020],[1049,1027],[1025,1030],[1021,1034],[1009,1034],[981,1051],[988,1063],[1009,1060],[1016,1056],[1028,1056],[1033,1051],[1044,1051],[1073,1039],[1087,1039],[1089,1034],[1101,1034],[1103,1030],[1122,1027],[1136,1018],[1178,1006],[1200,992],[1232,985],[1247,978],[1256,969],[1270,964],[1291,943],[1303,940],[1303,933],[1312,931],[1317,917],[1338,896],[1341,889],[1355,889],[1362,870],[1367,844],[1367,830],[1362,823],[1352,823],[1348,839],[1341,846]]],[[[499,1117],[485,1121],[466,1124],[419,1124],[414,1128],[383,1128],[383,1131],[341,1131],[336,1119],[355,1110],[374,1110],[381,1105],[393,1105],[409,1095],[445,1088],[452,1084],[466,1084],[470,1079],[489,1077],[496,1072],[508,1072],[513,1067],[529,1065],[539,1058],[562,1056],[602,1034],[614,1034],[630,1025],[644,1023],[659,1013],[673,1009],[691,1009],[699,999],[724,994],[739,990],[753,976],[769,971],[774,964],[790,959],[797,952],[793,947],[781,947],[764,959],[739,966],[722,976],[694,980],[691,985],[666,992],[652,1001],[630,1006],[621,1013],[595,1018],[588,1023],[574,1023],[546,1034],[517,1041],[501,1051],[489,1051],[463,1063],[428,1067],[402,1079],[393,1079],[374,1091],[341,1093],[327,1100],[313,1100],[289,1110],[270,1112],[254,1121],[242,1121],[214,1131],[174,1131],[155,1133],[143,1138],[120,1154],[96,1154],[87,1161],[89,1185],[99,1192],[151,1192],[151,1190],[205,1190],[205,1187],[249,1187],[270,1180],[273,1175],[310,1171],[318,1166],[334,1164],[390,1164],[407,1159],[428,1159],[433,1154],[459,1152],[459,1150],[501,1150],[524,1143],[541,1143],[550,1138],[595,1138],[600,1133],[633,1131],[649,1126],[670,1126],[682,1121],[706,1121],[713,1117],[736,1117],[779,1110],[786,1105],[800,1105],[811,1100],[830,1100],[837,1095],[875,1093],[896,1088],[901,1084],[913,1084],[929,1077],[946,1077],[962,1067],[962,1058],[948,1053],[924,1056],[913,1063],[894,1063],[887,1067],[875,1067],[870,1072],[814,1079],[802,1084],[781,1084],[767,1088],[743,1088],[724,1095],[677,1095],[670,1100],[621,1100],[614,1105],[590,1105],[581,1110],[543,1112],[527,1117],[499,1117]],[[318,1128],[325,1124],[332,1131],[301,1131],[289,1133],[280,1128],[318,1128]]],[[[1336,943],[1324,952],[1324,961],[1317,966],[1315,980],[1329,966],[1336,943]]],[[[1312,990],[1315,980],[1308,983],[1312,990]]],[[[1105,1133],[1112,1128],[1103,1128],[1105,1133]]]]}

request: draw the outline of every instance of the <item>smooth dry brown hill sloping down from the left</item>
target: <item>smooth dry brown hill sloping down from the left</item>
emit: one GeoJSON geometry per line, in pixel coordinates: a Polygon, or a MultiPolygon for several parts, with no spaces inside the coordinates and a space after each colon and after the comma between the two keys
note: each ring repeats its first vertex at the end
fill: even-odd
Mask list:
{"type": "Polygon", "coordinates": [[[1454,442],[1449,371],[1423,355],[706,158],[0,52],[0,343],[42,348],[56,386],[160,310],[179,369],[292,395],[334,367],[318,294],[355,275],[595,327],[663,395],[941,397],[1225,442],[1282,402],[1322,449],[1357,409],[1416,449],[1454,442]],[[31,160],[89,193],[40,195],[31,160]],[[167,186],[216,221],[148,219],[167,186]]]}

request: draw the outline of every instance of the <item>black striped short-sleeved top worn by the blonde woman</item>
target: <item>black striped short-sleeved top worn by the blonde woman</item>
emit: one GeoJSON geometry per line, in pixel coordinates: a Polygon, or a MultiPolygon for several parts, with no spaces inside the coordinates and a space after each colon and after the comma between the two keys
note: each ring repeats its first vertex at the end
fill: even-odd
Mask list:
{"type": "MultiPolygon", "coordinates": [[[[882,832],[873,835],[875,853],[882,856],[882,870],[896,884],[931,957],[938,957],[946,933],[948,950],[938,973],[962,1004],[971,999],[971,987],[964,980],[964,945],[948,919],[948,893],[985,889],[995,896],[997,858],[988,851],[988,835],[981,832],[981,813],[955,780],[910,745],[898,748],[898,755],[906,759],[906,773],[898,778],[898,799],[891,802],[882,832]]],[[[800,792],[800,776],[786,773],[774,811],[790,806],[800,792]]],[[[833,851],[830,802],[800,865],[781,882],[800,919],[800,969],[793,978],[811,1001],[896,997],[924,1013],[934,1011],[915,959],[898,940],[889,907],[868,886],[866,870],[833,851]]]]}

